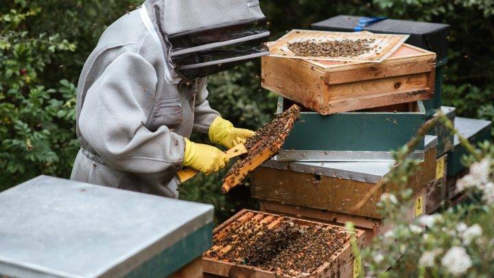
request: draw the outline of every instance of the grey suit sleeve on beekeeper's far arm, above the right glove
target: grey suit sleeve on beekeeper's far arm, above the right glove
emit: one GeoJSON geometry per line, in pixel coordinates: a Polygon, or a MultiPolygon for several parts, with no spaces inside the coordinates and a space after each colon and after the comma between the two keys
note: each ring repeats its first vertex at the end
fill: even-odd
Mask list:
{"type": "Polygon", "coordinates": [[[213,123],[214,119],[220,116],[220,113],[213,110],[209,106],[207,100],[208,91],[206,89],[207,79],[200,80],[198,85],[198,94],[196,96],[196,107],[194,107],[194,124],[193,132],[200,132],[207,134],[209,132],[209,126],[213,123]]]}

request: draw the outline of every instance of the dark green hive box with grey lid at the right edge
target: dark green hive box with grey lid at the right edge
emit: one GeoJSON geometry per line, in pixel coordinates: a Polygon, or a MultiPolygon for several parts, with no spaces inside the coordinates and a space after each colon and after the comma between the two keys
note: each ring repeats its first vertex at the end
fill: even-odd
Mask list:
{"type": "MultiPolygon", "coordinates": [[[[456,117],[454,124],[456,130],[475,146],[479,142],[492,140],[491,121],[456,117]]],[[[453,150],[448,152],[447,176],[456,176],[465,169],[462,164],[462,157],[466,154],[468,154],[467,150],[461,145],[458,136],[455,135],[453,150]]]]}

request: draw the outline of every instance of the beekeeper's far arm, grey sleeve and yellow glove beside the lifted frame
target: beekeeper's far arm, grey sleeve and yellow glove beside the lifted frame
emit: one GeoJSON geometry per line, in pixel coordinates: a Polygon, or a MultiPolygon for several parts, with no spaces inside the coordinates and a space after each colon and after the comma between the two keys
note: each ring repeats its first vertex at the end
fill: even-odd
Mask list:
{"type": "Polygon", "coordinates": [[[194,115],[195,132],[207,133],[209,140],[219,143],[226,148],[233,148],[254,135],[255,132],[244,128],[235,128],[230,121],[223,119],[220,113],[214,111],[207,101],[206,78],[199,85],[194,115]]]}

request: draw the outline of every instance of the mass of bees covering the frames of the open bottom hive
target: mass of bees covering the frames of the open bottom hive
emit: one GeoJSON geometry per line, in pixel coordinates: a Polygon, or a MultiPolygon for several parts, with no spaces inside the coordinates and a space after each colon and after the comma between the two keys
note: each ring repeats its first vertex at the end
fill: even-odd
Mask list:
{"type": "Polygon", "coordinates": [[[206,257],[256,266],[278,275],[305,276],[331,262],[347,241],[347,233],[340,227],[307,226],[283,218],[270,228],[269,223],[257,221],[237,229],[226,227],[226,236],[213,238],[213,245],[220,248],[207,252],[206,257]]]}

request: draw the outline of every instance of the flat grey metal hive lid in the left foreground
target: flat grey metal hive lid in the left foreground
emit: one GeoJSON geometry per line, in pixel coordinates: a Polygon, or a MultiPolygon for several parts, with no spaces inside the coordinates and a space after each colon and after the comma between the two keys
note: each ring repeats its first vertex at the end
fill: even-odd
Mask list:
{"type": "Polygon", "coordinates": [[[211,205],[38,176],[0,194],[0,276],[123,276],[212,220],[211,205]]]}

